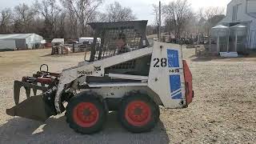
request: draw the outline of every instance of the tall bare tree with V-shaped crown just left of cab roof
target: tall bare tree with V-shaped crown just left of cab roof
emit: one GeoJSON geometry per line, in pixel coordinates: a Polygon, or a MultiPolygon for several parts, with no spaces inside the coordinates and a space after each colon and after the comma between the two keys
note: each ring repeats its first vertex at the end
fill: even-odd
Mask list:
{"type": "Polygon", "coordinates": [[[102,4],[102,0],[61,0],[62,5],[78,18],[80,36],[86,35],[86,26],[94,11],[102,4]]]}

